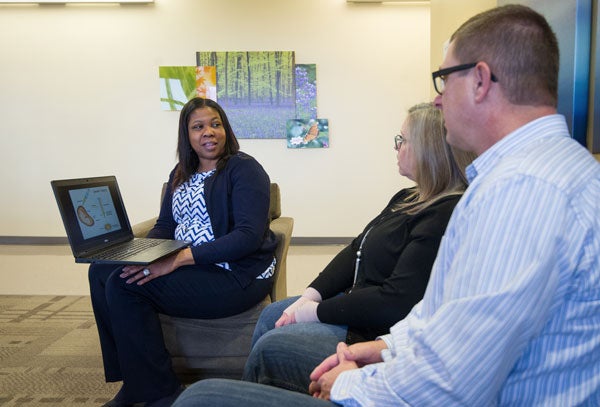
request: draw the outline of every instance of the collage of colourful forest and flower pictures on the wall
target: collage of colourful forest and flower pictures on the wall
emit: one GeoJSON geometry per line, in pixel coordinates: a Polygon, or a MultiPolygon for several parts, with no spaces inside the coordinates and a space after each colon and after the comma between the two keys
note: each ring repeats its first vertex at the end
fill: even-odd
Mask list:
{"type": "Polygon", "coordinates": [[[286,139],[291,149],[329,147],[329,121],[317,117],[317,68],[293,51],[197,52],[196,66],[160,66],[163,110],[191,98],[217,101],[240,139],[286,139]]]}

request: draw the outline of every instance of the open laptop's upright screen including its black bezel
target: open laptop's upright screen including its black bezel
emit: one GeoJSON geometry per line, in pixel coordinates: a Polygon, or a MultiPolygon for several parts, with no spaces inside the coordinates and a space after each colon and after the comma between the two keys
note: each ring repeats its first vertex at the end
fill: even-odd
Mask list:
{"type": "Polygon", "coordinates": [[[133,238],[114,176],[51,184],[75,257],[133,238]]]}

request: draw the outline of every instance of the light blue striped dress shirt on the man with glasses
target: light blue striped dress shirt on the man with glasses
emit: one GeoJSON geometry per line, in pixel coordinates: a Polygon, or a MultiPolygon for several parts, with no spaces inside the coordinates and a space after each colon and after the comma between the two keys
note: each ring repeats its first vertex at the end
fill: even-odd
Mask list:
{"type": "Polygon", "coordinates": [[[560,115],[467,169],[425,297],[347,406],[600,406],[600,164],[560,115]]]}

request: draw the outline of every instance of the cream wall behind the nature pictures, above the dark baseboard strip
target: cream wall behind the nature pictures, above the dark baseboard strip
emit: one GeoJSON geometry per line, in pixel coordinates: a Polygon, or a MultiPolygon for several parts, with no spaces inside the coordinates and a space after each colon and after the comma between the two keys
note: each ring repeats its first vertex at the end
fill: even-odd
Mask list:
{"type": "Polygon", "coordinates": [[[273,181],[294,236],[353,236],[392,194],[392,138],[430,95],[428,6],[345,0],[155,0],[0,6],[0,236],[62,236],[49,181],[115,174],[132,222],[154,216],[175,163],[177,112],[158,67],[196,51],[291,50],[317,64],[329,149],[241,140],[273,181]]]}

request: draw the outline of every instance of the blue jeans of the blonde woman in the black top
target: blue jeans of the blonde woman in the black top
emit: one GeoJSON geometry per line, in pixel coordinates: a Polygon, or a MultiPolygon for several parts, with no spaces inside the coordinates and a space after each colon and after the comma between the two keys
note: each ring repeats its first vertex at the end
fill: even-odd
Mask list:
{"type": "Polygon", "coordinates": [[[346,326],[309,322],[275,328],[283,310],[298,298],[275,302],[263,310],[242,380],[308,393],[310,373],[345,341],[346,326]]]}

